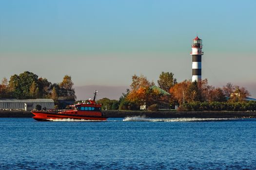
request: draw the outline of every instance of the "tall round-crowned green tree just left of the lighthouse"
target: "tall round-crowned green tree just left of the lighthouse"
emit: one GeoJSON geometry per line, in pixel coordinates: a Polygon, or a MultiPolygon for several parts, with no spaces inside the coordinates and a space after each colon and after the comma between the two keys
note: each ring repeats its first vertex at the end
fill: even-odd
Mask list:
{"type": "Polygon", "coordinates": [[[158,80],[158,86],[169,92],[170,88],[177,84],[177,79],[174,78],[174,74],[172,72],[161,72],[159,75],[159,80],[158,80]]]}

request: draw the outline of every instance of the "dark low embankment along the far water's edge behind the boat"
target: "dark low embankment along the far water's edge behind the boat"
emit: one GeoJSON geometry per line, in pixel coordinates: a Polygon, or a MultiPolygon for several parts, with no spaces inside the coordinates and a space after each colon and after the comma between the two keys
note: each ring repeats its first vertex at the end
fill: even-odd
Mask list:
{"type": "MultiPolygon", "coordinates": [[[[148,118],[256,118],[255,111],[126,111],[103,110],[109,118],[145,116],[148,118]]],[[[0,118],[32,118],[30,111],[0,111],[0,118]]]]}

